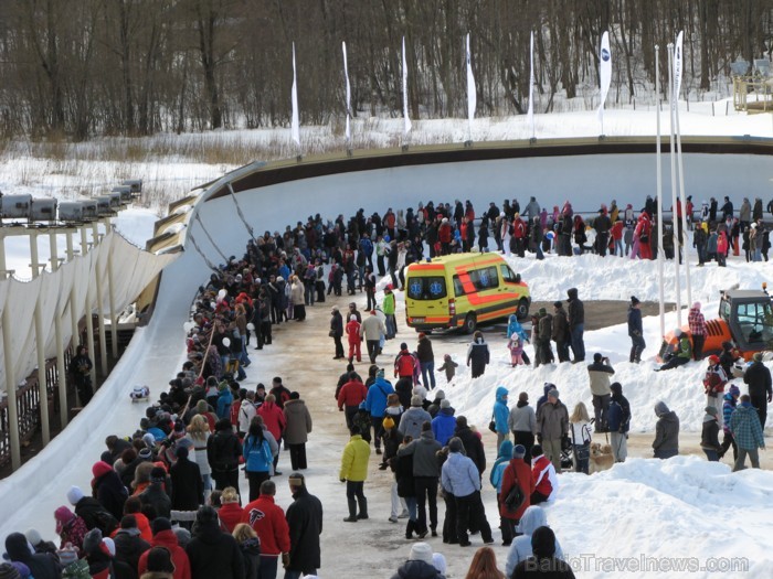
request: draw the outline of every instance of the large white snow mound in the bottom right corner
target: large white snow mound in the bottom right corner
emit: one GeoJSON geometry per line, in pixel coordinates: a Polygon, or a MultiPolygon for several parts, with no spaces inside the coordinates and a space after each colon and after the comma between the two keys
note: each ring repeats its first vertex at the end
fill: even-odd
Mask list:
{"type": "Polygon", "coordinates": [[[580,577],[656,577],[658,569],[661,577],[708,577],[712,565],[723,577],[773,572],[769,472],[731,473],[697,457],[629,459],[592,476],[563,474],[560,484],[548,522],[580,577]],[[673,567],[656,567],[664,565],[673,567]],[[675,572],[679,566],[698,567],[675,572]]]}

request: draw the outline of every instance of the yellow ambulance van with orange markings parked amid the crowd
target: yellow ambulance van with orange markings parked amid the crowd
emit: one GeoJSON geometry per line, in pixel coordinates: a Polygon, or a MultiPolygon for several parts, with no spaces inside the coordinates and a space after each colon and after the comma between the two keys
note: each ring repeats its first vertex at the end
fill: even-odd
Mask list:
{"type": "Polygon", "coordinates": [[[529,314],[531,296],[499,254],[453,254],[411,264],[405,272],[406,323],[417,331],[464,329],[529,314]]]}

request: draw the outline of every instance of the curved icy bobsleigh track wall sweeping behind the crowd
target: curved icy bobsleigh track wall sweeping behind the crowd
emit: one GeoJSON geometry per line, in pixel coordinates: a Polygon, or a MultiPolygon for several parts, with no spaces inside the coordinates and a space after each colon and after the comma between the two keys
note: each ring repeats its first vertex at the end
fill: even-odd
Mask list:
{"type": "MultiPolygon", "coordinates": [[[[88,489],[91,465],[104,449],[105,437],[137,428],[144,408],[129,401],[133,386],[147,384],[157,396],[181,365],[182,324],[197,288],[209,276],[204,259],[188,236],[192,235],[215,264],[222,258],[204,235],[202,223],[225,255],[241,255],[248,238],[227,193],[229,183],[256,234],[284,228],[316,213],[325,218],[339,213],[349,216],[358,207],[368,214],[382,213],[389,206],[398,210],[428,200],[469,199],[480,212],[490,200],[499,204],[516,197],[523,203],[536,195],[543,206],[570,199],[575,211],[591,212],[612,199],[638,208],[647,194],[655,194],[655,156],[646,152],[654,150],[654,139],[578,141],[574,148],[564,142],[546,148],[538,157],[526,153],[538,147],[495,144],[407,153],[379,151],[371,157],[358,152],[352,159],[248,165],[202,186],[188,214],[188,226],[174,225],[179,232],[172,237],[179,236],[184,251],[163,270],[149,326],[138,330],[109,379],[66,431],[0,482],[0,496],[12,497],[0,501],[0,535],[29,527],[52,528],[52,514],[66,503],[68,485],[88,489]],[[422,164],[422,159],[428,164],[422,164]]],[[[739,201],[742,195],[763,200],[773,195],[770,140],[701,139],[695,146],[686,141],[685,151],[687,194],[698,203],[712,195],[731,194],[739,201]]],[[[666,157],[664,194],[668,199],[669,184],[666,157]]]]}

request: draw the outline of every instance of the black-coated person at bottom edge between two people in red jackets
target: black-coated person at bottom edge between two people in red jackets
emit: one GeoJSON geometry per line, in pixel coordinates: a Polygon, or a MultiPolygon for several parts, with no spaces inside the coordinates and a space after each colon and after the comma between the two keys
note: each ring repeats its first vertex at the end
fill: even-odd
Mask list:
{"type": "Polygon", "coordinates": [[[244,560],[236,539],[220,530],[218,512],[202,506],[186,546],[191,579],[244,579],[244,560]]]}

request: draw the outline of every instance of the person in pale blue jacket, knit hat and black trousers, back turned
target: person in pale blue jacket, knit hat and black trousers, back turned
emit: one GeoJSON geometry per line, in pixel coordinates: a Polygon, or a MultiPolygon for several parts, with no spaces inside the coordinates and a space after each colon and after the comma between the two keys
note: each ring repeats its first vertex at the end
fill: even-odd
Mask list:
{"type": "Polygon", "coordinates": [[[483,542],[494,543],[491,527],[486,519],[486,510],[480,501],[480,472],[468,457],[465,457],[464,444],[458,437],[448,441],[448,458],[441,471],[443,492],[454,495],[456,504],[456,536],[459,547],[470,545],[468,528],[477,528],[483,542]]]}

